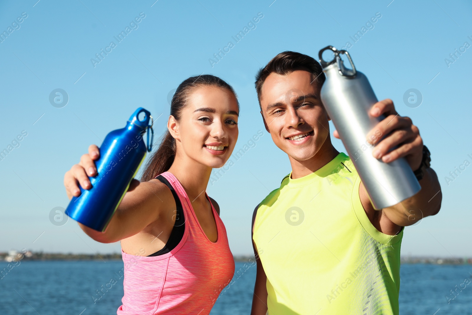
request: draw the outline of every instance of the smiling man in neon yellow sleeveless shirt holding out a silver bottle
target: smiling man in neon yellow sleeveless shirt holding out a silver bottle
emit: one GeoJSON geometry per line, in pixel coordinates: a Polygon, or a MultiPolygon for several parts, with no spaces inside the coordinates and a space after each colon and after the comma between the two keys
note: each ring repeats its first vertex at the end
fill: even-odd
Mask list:
{"type": "Polygon", "coordinates": [[[292,172],[254,210],[252,315],[398,314],[403,227],[441,205],[418,128],[387,99],[372,107],[372,116],[386,119],[366,141],[383,162],[405,157],[421,190],[374,210],[351,159],[331,144],[320,101],[324,80],[316,60],[292,51],[256,77],[265,128],[288,154],[292,172]]]}

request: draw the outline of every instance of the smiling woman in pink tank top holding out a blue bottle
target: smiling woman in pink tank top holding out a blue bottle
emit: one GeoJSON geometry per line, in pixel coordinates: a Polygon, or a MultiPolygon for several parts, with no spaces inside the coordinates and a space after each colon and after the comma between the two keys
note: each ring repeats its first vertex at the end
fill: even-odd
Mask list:
{"type": "MultiPolygon", "coordinates": [[[[222,167],[238,136],[239,104],[219,77],[182,82],[170,105],[168,132],[101,233],[79,223],[96,241],[121,241],[123,305],[117,314],[209,314],[235,264],[218,204],[205,193],[212,168],[222,167]]],[[[67,171],[69,199],[78,183],[90,189],[95,145],[67,171]]]]}

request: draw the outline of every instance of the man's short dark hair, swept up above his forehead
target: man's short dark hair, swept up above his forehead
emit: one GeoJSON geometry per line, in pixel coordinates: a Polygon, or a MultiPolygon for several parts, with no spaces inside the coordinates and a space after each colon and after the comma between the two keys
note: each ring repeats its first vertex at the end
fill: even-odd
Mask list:
{"type": "Polygon", "coordinates": [[[316,81],[318,87],[323,85],[326,77],[318,61],[312,57],[295,51],[284,51],[272,58],[269,63],[259,70],[256,76],[256,92],[259,106],[261,106],[261,92],[264,81],[272,72],[279,75],[287,75],[295,70],[305,70],[312,74],[312,80],[316,81]]]}

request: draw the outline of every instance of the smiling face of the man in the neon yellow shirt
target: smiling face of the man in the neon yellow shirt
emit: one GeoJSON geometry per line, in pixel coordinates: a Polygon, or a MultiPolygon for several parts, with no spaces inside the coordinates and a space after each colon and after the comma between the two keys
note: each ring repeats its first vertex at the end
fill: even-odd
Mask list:
{"type": "Polygon", "coordinates": [[[312,158],[329,136],[328,114],[312,74],[271,73],[261,89],[261,113],[279,149],[297,161],[312,158]]]}

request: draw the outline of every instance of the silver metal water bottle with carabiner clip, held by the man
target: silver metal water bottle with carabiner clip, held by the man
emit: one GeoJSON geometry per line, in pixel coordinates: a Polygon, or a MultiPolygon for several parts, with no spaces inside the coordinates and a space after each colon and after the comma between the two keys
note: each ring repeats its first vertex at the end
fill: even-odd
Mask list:
{"type": "MultiPolygon", "coordinates": [[[[383,209],[415,195],[421,186],[405,158],[382,162],[372,155],[367,133],[385,116],[372,117],[369,112],[378,102],[369,80],[357,71],[347,51],[333,46],[320,50],[320,63],[326,74],[320,98],[359,173],[369,199],[375,209],[383,209]],[[334,59],[325,61],[324,51],[333,51],[334,59]],[[352,69],[345,68],[341,55],[345,54],[352,69]]],[[[386,135],[378,135],[380,139],[386,135]]]]}

